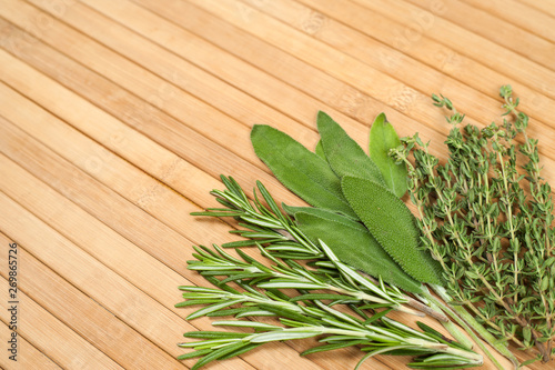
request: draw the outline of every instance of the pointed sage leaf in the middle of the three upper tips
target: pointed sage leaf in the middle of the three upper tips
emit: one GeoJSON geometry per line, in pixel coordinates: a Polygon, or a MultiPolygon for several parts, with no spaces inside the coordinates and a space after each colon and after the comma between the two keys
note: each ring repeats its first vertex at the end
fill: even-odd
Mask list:
{"type": "Polygon", "coordinates": [[[317,113],[317,130],[325,159],[337,177],[356,176],[385,186],[376,163],[339,123],[322,111],[317,113]]]}

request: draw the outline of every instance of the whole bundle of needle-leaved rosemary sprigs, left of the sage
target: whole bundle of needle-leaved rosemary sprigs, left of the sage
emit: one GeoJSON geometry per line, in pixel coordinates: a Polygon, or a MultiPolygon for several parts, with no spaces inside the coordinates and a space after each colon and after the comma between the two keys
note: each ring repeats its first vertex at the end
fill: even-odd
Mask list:
{"type": "MultiPolygon", "coordinates": [[[[181,343],[192,348],[180,359],[201,357],[192,369],[213,360],[244,353],[265,342],[321,337],[322,346],[301,353],[306,356],[356,346],[366,354],[360,364],[375,354],[415,356],[407,366],[414,369],[467,368],[483,363],[482,356],[467,344],[445,338],[418,322],[421,330],[386,317],[392,310],[423,316],[416,309],[431,309],[400,289],[375,281],[343,263],[324,242],[312,242],[283,214],[262,183],[258,183],[254,201],[232,178],[222,177],[226,190],[213,194],[225,208],[212,208],[198,216],[235,217],[244,230],[235,233],[249,238],[223,247],[256,246],[272,263],[261,263],[236,249],[241,259],[222,248],[194,247],[195,260],[189,269],[199,271],[216,288],[180,287],[185,301],[176,307],[202,304],[188,319],[234,316],[235,319],[278,317],[280,324],[249,320],[223,320],[214,326],[252,328],[254,332],[193,331],[186,338],[200,339],[181,343]],[[262,247],[264,244],[265,247],[262,247]],[[297,260],[310,259],[302,264],[297,260]],[[231,284],[234,284],[232,287],[231,284]],[[282,290],[294,289],[289,297],[282,290]],[[339,307],[337,309],[335,307],[339,307]]],[[[440,319],[446,320],[441,312],[440,319]]],[[[359,366],[356,368],[359,368],[359,366]]]]}

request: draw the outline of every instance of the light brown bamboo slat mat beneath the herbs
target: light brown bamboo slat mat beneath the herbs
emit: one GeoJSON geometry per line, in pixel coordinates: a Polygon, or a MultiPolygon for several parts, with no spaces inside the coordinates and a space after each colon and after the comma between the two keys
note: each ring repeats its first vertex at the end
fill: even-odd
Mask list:
{"type": "MultiPolygon", "coordinates": [[[[0,0],[0,367],[192,367],[176,343],[211,320],[184,319],[194,308],[174,308],[178,286],[208,284],[186,270],[192,246],[236,237],[229,220],[190,212],[216,204],[221,173],[303,204],[255,157],[255,123],[313,148],[323,110],[365,147],[385,112],[445,158],[445,112],[430,96],[482,126],[509,83],[555,183],[554,24],[553,0],[0,0]]],[[[206,369],[353,369],[362,357],[299,357],[314,343],[270,343],[206,369]]],[[[362,369],[408,360],[377,356],[362,369]]]]}

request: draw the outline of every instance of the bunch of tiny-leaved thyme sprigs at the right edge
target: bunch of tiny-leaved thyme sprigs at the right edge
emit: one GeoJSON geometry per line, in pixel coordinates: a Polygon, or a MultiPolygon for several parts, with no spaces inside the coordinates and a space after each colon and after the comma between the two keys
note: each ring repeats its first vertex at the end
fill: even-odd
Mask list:
{"type": "Polygon", "coordinates": [[[408,167],[422,243],[442,264],[452,304],[468,309],[498,342],[535,348],[546,362],[555,353],[551,187],[539,173],[537,140],[526,134],[528,117],[509,86],[501,97],[502,123],[478,129],[462,127],[464,114],[434,94],[434,104],[451,111],[447,161],[417,134],[393,154],[408,167]]]}

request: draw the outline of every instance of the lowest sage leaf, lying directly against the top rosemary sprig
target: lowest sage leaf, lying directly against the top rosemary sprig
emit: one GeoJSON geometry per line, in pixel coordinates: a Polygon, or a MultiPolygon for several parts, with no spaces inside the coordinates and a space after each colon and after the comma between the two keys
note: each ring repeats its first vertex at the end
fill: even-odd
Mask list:
{"type": "Polygon", "coordinates": [[[323,240],[343,263],[406,291],[421,291],[422,284],[395,263],[363,224],[315,208],[304,208],[294,217],[309,239],[323,240]]]}

